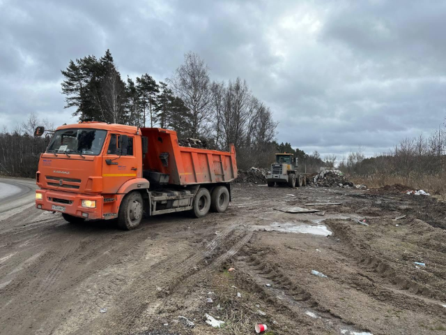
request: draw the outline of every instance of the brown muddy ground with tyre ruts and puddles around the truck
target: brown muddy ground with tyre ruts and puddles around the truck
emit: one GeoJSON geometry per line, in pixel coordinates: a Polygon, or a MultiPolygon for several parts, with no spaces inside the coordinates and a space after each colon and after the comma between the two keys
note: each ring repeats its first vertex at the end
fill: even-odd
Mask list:
{"type": "Polygon", "coordinates": [[[225,214],[130,232],[32,204],[0,204],[0,334],[446,334],[445,207],[422,196],[242,184],[225,214]]]}

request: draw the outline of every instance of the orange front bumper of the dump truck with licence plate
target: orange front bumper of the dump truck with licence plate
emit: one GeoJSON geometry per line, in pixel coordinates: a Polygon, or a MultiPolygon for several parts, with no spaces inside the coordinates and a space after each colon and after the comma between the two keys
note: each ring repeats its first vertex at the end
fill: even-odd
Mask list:
{"type": "Polygon", "coordinates": [[[42,193],[42,200],[36,199],[36,208],[45,211],[59,211],[61,213],[78,216],[79,218],[103,218],[102,196],[69,193],[38,189],[36,193],[42,193]],[[82,200],[95,201],[95,208],[82,207],[82,200]]]}

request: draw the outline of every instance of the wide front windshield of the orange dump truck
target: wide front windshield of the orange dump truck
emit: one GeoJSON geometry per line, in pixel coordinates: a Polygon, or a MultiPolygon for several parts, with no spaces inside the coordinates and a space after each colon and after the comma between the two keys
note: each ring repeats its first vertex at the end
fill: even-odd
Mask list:
{"type": "Polygon", "coordinates": [[[61,129],[54,133],[47,152],[98,156],[106,135],[107,131],[99,129],[61,129]]]}

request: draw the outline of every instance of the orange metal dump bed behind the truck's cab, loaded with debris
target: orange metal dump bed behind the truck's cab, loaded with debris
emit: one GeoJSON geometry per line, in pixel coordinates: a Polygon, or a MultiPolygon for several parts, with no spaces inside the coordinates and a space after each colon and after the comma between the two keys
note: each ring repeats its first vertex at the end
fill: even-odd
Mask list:
{"type": "Polygon", "coordinates": [[[176,185],[222,183],[237,177],[232,144],[230,151],[180,147],[176,132],[162,128],[141,128],[141,135],[148,138],[144,174],[161,174],[169,184],[176,185]]]}

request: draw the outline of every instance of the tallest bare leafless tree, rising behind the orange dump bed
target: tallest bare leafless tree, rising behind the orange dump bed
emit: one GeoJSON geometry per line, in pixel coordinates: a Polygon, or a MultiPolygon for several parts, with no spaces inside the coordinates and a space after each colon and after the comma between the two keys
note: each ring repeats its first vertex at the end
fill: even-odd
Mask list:
{"type": "Polygon", "coordinates": [[[209,107],[212,101],[207,64],[198,54],[188,52],[184,64],[176,69],[169,83],[192,113],[192,136],[205,135],[211,119],[209,107]]]}

